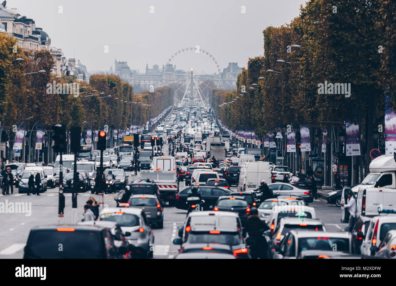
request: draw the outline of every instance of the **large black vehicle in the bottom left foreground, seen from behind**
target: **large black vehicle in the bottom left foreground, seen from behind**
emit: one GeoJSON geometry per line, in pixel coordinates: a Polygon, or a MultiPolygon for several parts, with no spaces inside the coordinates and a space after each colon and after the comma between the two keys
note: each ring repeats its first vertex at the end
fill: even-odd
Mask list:
{"type": "Polygon", "coordinates": [[[118,255],[108,227],[44,225],[30,230],[23,259],[114,259],[118,255]]]}

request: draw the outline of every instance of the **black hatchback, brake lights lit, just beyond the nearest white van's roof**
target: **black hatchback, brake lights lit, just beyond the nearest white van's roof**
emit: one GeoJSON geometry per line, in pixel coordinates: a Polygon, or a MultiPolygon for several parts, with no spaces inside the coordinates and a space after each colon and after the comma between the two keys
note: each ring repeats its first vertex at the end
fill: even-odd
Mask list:
{"type": "Polygon", "coordinates": [[[245,225],[247,216],[250,212],[249,204],[245,200],[244,196],[239,194],[235,195],[233,193],[228,196],[220,196],[213,210],[237,213],[241,219],[242,226],[245,225]]]}

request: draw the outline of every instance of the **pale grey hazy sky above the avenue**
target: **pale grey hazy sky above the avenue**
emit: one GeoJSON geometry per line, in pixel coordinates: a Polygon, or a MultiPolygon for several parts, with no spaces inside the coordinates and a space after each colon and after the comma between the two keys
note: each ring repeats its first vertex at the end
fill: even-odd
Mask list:
{"type": "MultiPolygon", "coordinates": [[[[221,70],[228,62],[246,67],[249,57],[263,54],[263,29],[290,23],[301,4],[305,0],[7,0],[7,8],[34,19],[51,46],[88,71],[114,69],[116,58],[139,72],[146,63],[162,68],[175,52],[196,45],[211,53],[221,70]]],[[[171,63],[177,69],[217,69],[209,56],[194,51],[171,63]]]]}

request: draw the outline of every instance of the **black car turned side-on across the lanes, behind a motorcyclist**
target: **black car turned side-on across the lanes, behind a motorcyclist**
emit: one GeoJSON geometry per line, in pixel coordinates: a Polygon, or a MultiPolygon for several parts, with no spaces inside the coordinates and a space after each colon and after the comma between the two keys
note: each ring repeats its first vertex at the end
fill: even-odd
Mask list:
{"type": "MultiPolygon", "coordinates": [[[[201,199],[205,200],[204,210],[212,210],[213,206],[217,202],[219,196],[227,196],[231,193],[228,189],[215,186],[197,186],[198,193],[201,195],[201,199]]],[[[179,210],[187,210],[187,197],[192,193],[191,187],[180,191],[176,196],[176,208],[179,210]]]]}

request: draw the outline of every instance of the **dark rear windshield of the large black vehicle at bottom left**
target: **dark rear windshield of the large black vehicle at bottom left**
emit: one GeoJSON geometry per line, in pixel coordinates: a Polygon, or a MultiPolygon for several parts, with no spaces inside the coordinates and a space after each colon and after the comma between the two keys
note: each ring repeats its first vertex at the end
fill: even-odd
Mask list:
{"type": "Polygon", "coordinates": [[[34,231],[30,236],[30,257],[44,259],[97,259],[103,258],[103,242],[98,231],[34,231]],[[62,244],[63,251],[59,251],[62,244]]]}

